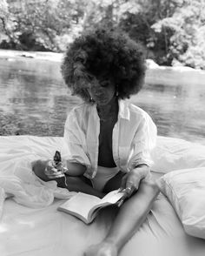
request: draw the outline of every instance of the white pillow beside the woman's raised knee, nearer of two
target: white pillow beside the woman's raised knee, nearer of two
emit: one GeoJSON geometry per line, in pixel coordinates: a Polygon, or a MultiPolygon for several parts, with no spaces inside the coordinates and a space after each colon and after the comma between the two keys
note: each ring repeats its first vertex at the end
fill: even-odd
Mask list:
{"type": "Polygon", "coordinates": [[[205,239],[205,168],[169,172],[157,180],[185,232],[205,239]]]}

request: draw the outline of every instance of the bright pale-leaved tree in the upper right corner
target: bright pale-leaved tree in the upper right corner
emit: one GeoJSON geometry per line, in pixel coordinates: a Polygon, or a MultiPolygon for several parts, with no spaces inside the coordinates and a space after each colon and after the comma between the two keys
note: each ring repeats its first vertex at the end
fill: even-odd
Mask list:
{"type": "Polygon", "coordinates": [[[175,11],[164,17],[152,28],[161,34],[169,33],[169,51],[166,57],[171,64],[182,64],[191,67],[205,68],[204,21],[205,2],[203,0],[176,1],[175,11]]]}

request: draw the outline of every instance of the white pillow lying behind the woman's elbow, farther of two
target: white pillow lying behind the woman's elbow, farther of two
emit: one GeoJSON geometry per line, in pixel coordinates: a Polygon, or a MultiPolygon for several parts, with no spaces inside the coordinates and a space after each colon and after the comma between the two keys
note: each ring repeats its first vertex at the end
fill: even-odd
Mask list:
{"type": "Polygon", "coordinates": [[[205,167],[205,145],[180,138],[158,136],[151,152],[153,172],[168,173],[174,170],[205,167]]]}

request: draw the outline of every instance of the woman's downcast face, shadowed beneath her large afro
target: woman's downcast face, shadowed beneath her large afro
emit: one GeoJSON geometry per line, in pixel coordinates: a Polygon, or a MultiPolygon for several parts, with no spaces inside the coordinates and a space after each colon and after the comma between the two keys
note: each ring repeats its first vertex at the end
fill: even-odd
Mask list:
{"type": "Polygon", "coordinates": [[[116,86],[109,79],[96,79],[88,91],[89,96],[97,105],[106,105],[116,95],[116,86]]]}

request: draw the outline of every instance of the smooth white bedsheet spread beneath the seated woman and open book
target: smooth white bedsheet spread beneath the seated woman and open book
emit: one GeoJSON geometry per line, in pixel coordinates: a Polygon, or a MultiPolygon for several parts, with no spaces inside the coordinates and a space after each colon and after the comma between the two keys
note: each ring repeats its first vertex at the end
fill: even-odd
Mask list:
{"type": "MultiPolygon", "coordinates": [[[[86,226],[79,219],[56,211],[63,199],[54,197],[67,197],[72,194],[65,190],[59,191],[54,183],[46,187],[31,176],[30,160],[51,158],[56,150],[62,154],[66,151],[63,138],[0,137],[0,206],[3,205],[0,221],[1,256],[80,256],[87,246],[101,241],[109,231],[116,214],[114,209],[103,210],[91,225],[86,226]],[[46,206],[40,205],[43,206],[40,208],[39,205],[32,205],[33,202],[38,202],[38,197],[30,205],[36,208],[19,204],[14,198],[5,199],[3,203],[3,194],[8,195],[5,183],[3,188],[3,177],[16,180],[17,184],[19,182],[24,192],[30,193],[30,187],[26,188],[26,185],[32,185],[34,191],[36,187],[39,191],[44,189],[52,195],[53,201],[48,200],[49,203],[46,206]]],[[[32,195],[34,194],[35,192],[32,195]]],[[[188,236],[183,231],[173,207],[160,194],[140,230],[120,253],[120,256],[127,255],[204,256],[205,240],[188,236]]]]}

